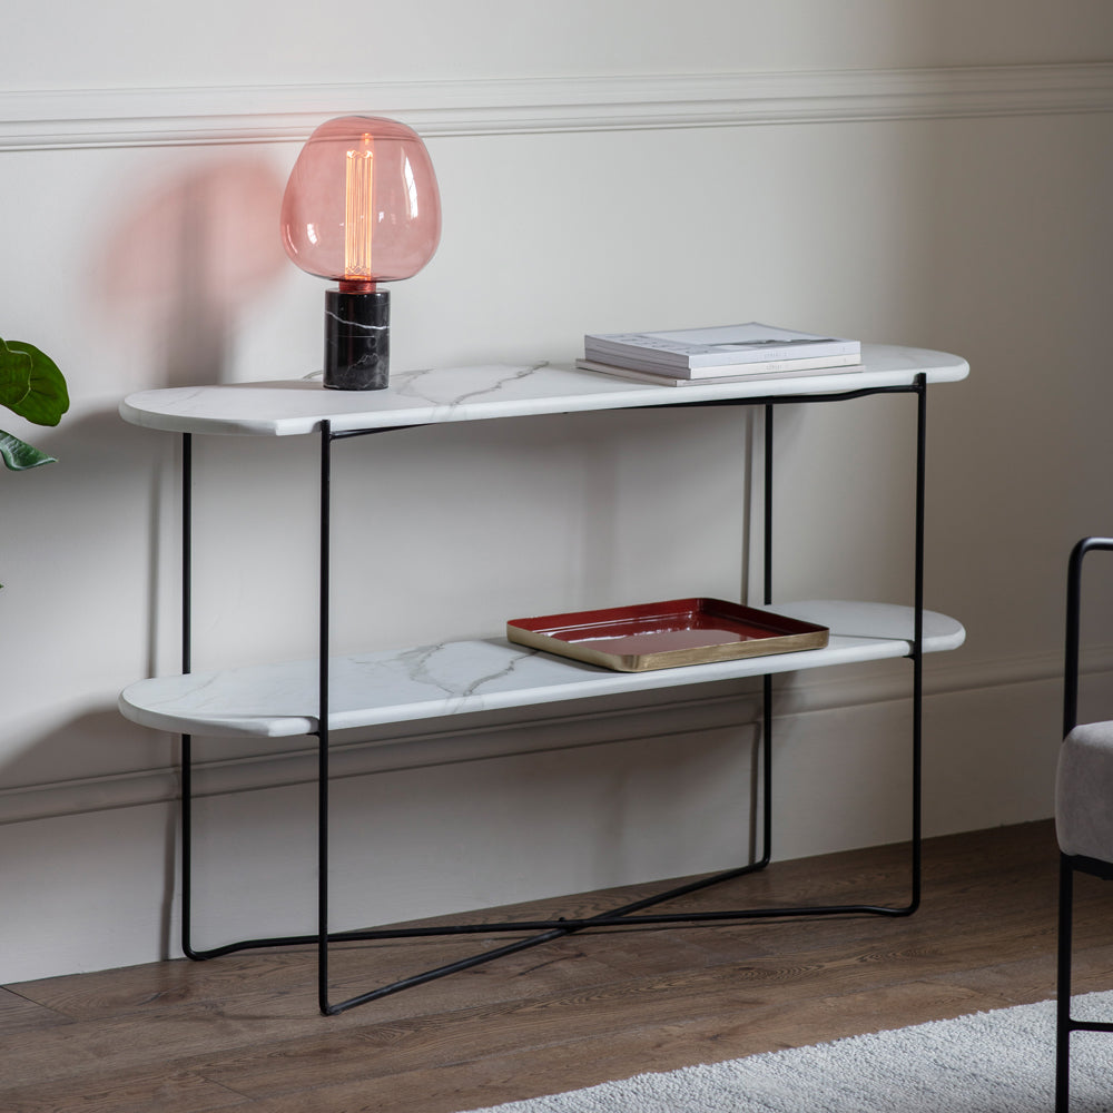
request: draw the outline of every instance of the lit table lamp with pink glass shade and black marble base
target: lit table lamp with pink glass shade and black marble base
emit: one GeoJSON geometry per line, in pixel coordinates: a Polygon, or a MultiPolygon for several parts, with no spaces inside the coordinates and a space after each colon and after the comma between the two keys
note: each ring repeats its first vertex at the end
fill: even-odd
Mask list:
{"type": "Polygon", "coordinates": [[[282,240],[303,270],[338,283],[325,293],[325,386],[382,390],[390,375],[390,294],[441,238],[429,151],[411,128],[345,116],[309,136],[282,203],[282,240]]]}

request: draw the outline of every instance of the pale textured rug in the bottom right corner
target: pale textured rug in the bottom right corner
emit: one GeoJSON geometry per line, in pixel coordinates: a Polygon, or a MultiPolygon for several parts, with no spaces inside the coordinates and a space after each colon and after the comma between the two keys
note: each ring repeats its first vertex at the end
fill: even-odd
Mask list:
{"type": "MultiPolygon", "coordinates": [[[[1074,1015],[1113,1018],[1113,992],[1075,997],[1074,1015]]],[[[1113,1111],[1113,1035],[1071,1038],[1071,1113],[1113,1111]]],[[[1054,1077],[1044,1001],[471,1113],[1050,1113],[1054,1077]]]]}

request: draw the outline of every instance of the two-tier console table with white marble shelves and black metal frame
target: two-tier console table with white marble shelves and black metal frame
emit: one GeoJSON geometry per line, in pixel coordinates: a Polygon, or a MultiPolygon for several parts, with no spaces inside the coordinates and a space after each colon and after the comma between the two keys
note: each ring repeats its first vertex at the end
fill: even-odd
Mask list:
{"type": "MultiPolygon", "coordinates": [[[[572,367],[481,366],[395,373],[385,391],[326,391],[308,381],[180,387],[132,394],[120,405],[122,417],[147,429],[183,437],[183,663],[181,674],[140,680],[120,696],[121,712],[135,722],[180,733],[181,743],[181,937],[190,958],[213,958],[253,947],[315,944],[318,1005],[326,1015],[420,985],[445,974],[536,946],[572,932],[600,926],[786,916],[870,913],[907,916],[920,899],[920,722],[923,656],[963,643],[961,623],[924,609],[924,477],[927,386],[957,382],[968,374],[957,356],[922,348],[864,345],[863,365],[853,373],[701,383],[673,387],[628,382],[572,367]],[[765,411],[764,603],[772,601],[772,441],[774,411],[782,403],[840,402],[876,394],[908,394],[916,400],[915,567],[912,604],[808,600],[778,603],[776,610],[830,627],[824,649],[749,658],[651,672],[623,673],[551,657],[511,644],[503,637],[418,646],[390,652],[329,657],[331,473],[336,442],[376,433],[447,422],[529,417],[643,407],[761,406],[765,411]],[[287,664],[194,672],[191,668],[191,467],[194,434],[239,436],[316,435],[319,437],[321,513],[318,587],[319,630],[316,657],[287,664]],[[873,904],[797,908],[729,909],[719,913],[644,913],[717,881],[764,868],[771,841],[771,677],[835,664],[908,658],[912,662],[912,861],[906,905],[873,904]],[[733,869],[672,888],[613,912],[588,918],[465,924],[331,932],[328,929],[329,732],[495,708],[610,696],[642,689],[713,683],[742,677],[764,678],[761,731],[760,854],[733,869]],[[193,890],[191,736],[244,738],[312,735],[317,738],[317,932],[307,936],[247,939],[207,951],[190,943],[193,890]],[[460,962],[349,997],[329,999],[329,943],[426,935],[531,933],[525,938],[460,962]]],[[[678,585],[681,592],[684,585],[678,585]]],[[[558,610],[561,600],[553,600],[558,610]]],[[[492,628],[505,615],[492,617],[492,628]]]]}

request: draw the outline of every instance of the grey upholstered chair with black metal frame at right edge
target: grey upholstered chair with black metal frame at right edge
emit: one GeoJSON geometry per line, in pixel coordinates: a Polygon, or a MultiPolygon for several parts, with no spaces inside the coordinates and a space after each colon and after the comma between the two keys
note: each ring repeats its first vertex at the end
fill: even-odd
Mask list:
{"type": "Polygon", "coordinates": [[[1080,1021],[1071,1015],[1074,874],[1078,870],[1113,880],[1113,722],[1076,725],[1082,562],[1094,549],[1113,550],[1113,539],[1084,538],[1074,546],[1066,587],[1064,737],[1055,784],[1055,834],[1060,848],[1055,1113],[1067,1113],[1070,1103],[1071,1033],[1113,1032],[1113,1023],[1080,1021]]]}

